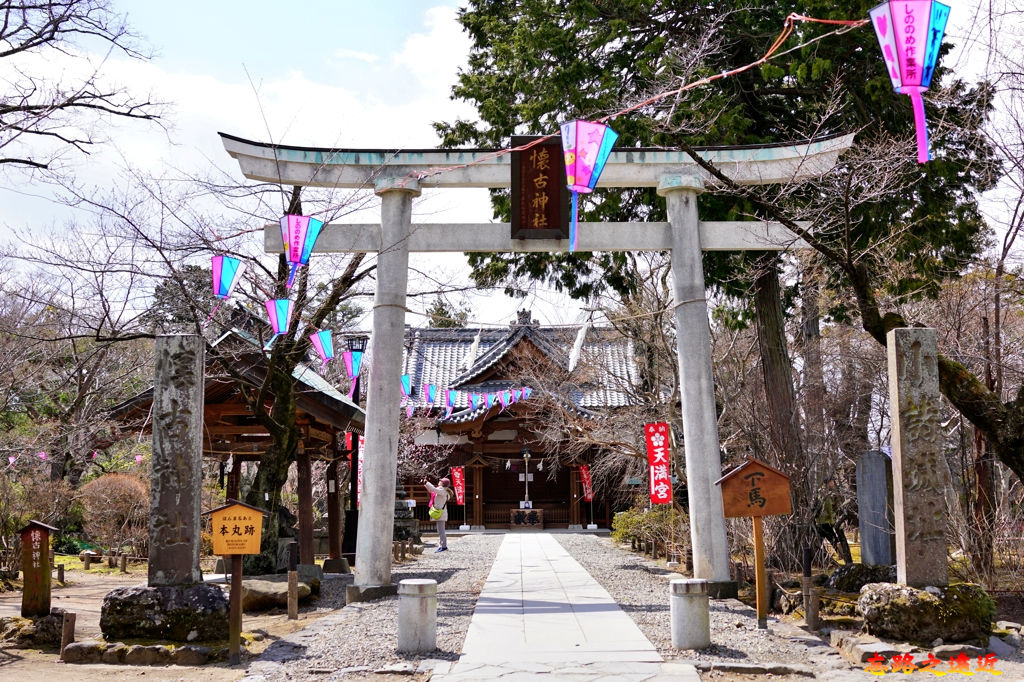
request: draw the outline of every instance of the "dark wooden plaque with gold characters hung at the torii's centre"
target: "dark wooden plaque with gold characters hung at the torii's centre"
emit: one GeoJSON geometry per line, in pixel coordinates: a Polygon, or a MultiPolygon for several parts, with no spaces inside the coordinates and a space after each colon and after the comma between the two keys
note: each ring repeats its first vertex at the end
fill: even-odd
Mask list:
{"type": "MultiPolygon", "coordinates": [[[[539,136],[513,135],[512,146],[539,136]]],[[[512,153],[512,239],[567,240],[569,190],[561,137],[512,153]]]]}

